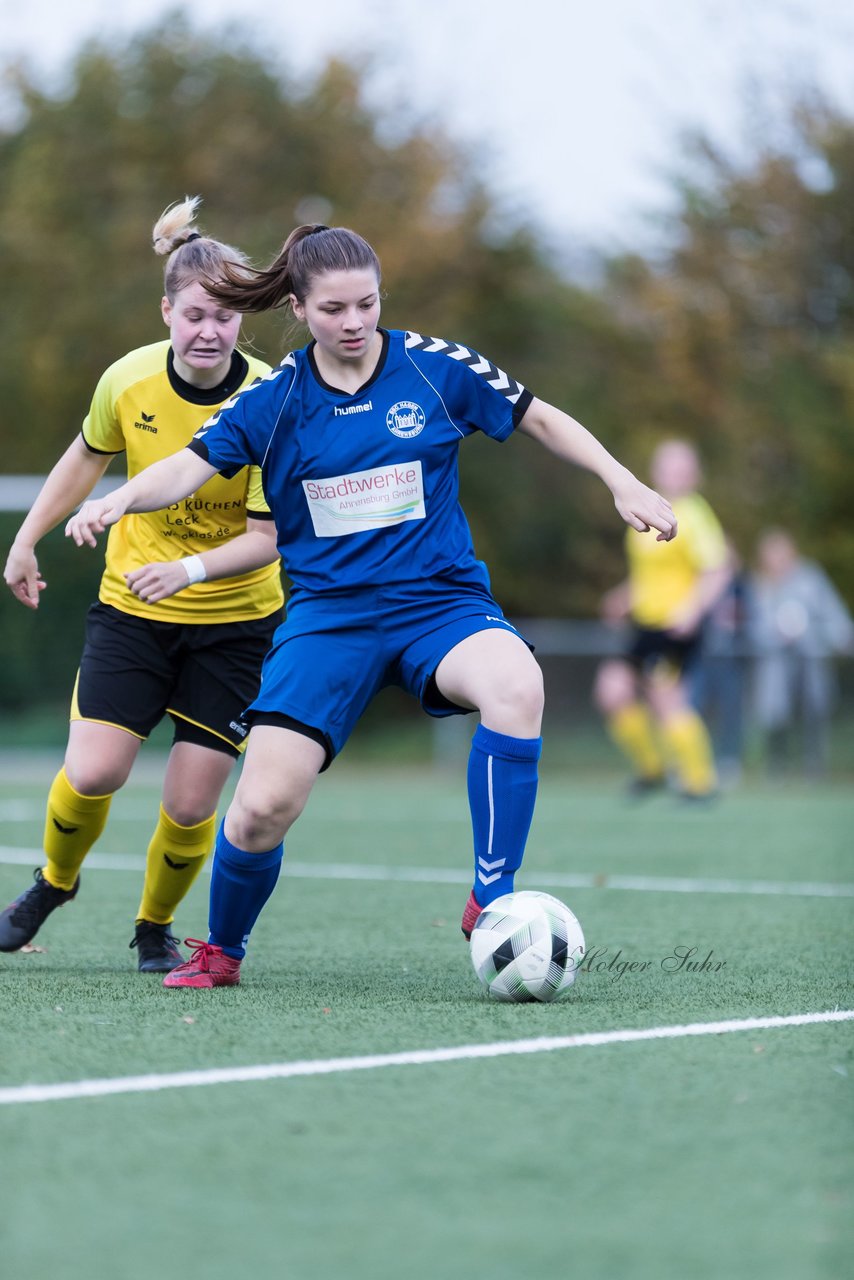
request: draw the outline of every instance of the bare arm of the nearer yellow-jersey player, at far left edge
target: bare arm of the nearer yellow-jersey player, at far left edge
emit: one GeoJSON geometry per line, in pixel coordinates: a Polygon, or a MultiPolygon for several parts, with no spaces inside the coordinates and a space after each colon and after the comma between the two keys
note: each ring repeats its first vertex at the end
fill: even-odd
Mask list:
{"type": "Polygon", "coordinates": [[[41,486],[15,534],[4,570],[6,586],[28,609],[38,608],[38,596],[47,586],[38,571],[36,547],[92,492],[110,461],[109,453],[87,449],[78,435],[41,486]]]}

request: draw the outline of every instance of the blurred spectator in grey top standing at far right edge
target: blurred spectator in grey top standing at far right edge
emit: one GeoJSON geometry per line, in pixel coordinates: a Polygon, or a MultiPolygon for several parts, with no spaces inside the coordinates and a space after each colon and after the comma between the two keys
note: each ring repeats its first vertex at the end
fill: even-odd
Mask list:
{"type": "Polygon", "coordinates": [[[782,529],[768,529],[759,539],[749,634],[768,768],[780,771],[790,762],[800,728],[804,769],[821,776],[836,691],[831,659],[854,652],[854,622],[825,571],[803,559],[782,529]]]}

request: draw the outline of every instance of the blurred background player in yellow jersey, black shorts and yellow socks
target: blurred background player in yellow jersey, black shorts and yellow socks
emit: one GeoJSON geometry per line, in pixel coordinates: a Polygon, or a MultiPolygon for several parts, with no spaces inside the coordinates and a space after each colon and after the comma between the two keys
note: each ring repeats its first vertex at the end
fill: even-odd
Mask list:
{"type": "Polygon", "coordinates": [[[684,440],[666,440],[650,465],[656,488],[670,499],[679,538],[656,541],[626,530],[629,577],[603,600],[612,625],[629,621],[625,658],[602,663],[594,701],[632,769],[643,795],[672,777],[689,800],[717,787],[707,727],[691,705],[686,672],[695,660],[703,620],[729,579],[727,547],[712,508],[697,493],[700,467],[684,440]]]}

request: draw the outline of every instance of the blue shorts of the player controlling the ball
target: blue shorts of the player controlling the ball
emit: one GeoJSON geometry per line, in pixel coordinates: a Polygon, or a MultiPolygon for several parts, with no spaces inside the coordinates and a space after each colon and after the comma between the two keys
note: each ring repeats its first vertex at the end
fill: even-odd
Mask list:
{"type": "Polygon", "coordinates": [[[261,687],[245,713],[250,724],[292,723],[341,751],[380,689],[398,685],[430,716],[470,708],[443,698],[434,675],[455,645],[478,631],[519,634],[488,591],[405,582],[360,591],[294,591],[264,659],[261,687]]]}

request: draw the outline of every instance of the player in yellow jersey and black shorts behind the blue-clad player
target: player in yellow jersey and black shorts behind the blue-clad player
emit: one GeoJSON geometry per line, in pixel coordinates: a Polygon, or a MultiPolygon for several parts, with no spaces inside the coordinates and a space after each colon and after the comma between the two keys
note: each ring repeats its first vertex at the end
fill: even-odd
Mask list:
{"type": "MultiPolygon", "coordinates": [[[[238,250],[193,229],[198,197],[157,220],[166,255],[163,319],[169,338],[118,360],[97,384],[77,439],[47,476],[5,567],[31,609],[45,589],[36,545],[125,453],[128,477],[186,445],[215,410],[269,366],[237,349],[241,315],[201,280],[246,264],[238,250]]],[[[282,616],[275,526],[260,471],[216,475],[165,511],[132,515],[110,531],[99,600],[90,609],[63,768],[47,797],[46,865],[0,913],[0,951],[17,951],[69,902],[101,835],[113,794],[165,714],[174,740],[147,852],[134,937],[138,968],[166,973],[183,956],[174,911],[214,842],[215,809],[246,737],[242,710],[282,616]]]]}

